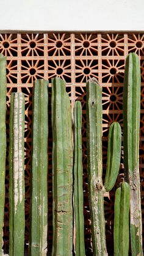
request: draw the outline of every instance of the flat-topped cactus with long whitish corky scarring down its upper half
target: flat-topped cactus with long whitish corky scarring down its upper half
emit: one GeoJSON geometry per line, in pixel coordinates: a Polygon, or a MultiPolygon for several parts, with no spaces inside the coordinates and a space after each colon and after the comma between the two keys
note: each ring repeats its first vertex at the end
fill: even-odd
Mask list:
{"type": "Polygon", "coordinates": [[[24,94],[10,99],[10,256],[24,255],[24,94]]]}

